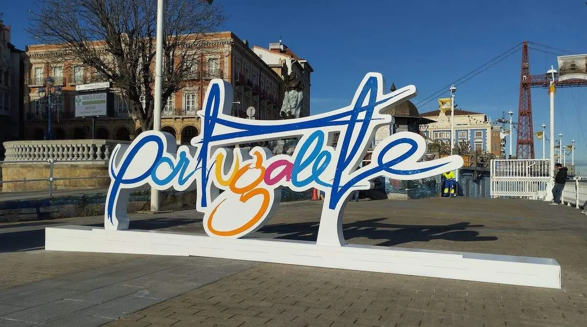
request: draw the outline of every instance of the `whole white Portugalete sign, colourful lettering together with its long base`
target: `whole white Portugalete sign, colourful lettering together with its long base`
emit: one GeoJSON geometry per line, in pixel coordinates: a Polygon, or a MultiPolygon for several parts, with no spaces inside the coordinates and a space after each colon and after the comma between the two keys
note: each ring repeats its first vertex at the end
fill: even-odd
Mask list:
{"type": "Polygon", "coordinates": [[[49,227],[45,248],[218,257],[561,288],[561,268],[552,259],[345,244],[343,210],[352,192],[372,187],[370,179],[426,178],[463,165],[457,155],[421,162],[426,154],[423,137],[399,132],[380,141],[371,163],[357,169],[374,131],[393,122],[379,111],[416,95],[413,86],[388,94],[383,90],[381,74],[369,73],[348,107],[290,120],[246,120],[230,115],[230,84],[212,80],[198,111],[202,130],[191,146],[177,147],[173,135],[157,131],[117,145],[110,159],[104,228],[49,227]],[[334,148],[336,132],[340,135],[334,148]],[[261,147],[228,147],[298,137],[291,156],[272,156],[261,147]],[[130,190],[146,184],[159,190],[196,190],[207,235],[126,230],[130,190]],[[284,186],[325,193],[316,242],[244,238],[271,219],[284,186]]]}

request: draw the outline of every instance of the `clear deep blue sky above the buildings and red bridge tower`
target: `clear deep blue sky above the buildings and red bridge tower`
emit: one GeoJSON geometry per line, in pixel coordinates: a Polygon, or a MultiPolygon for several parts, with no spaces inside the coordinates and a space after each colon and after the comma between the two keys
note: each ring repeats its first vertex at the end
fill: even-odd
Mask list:
{"type": "MultiPolygon", "coordinates": [[[[348,104],[368,71],[383,73],[389,86],[414,84],[417,103],[523,40],[587,53],[585,0],[214,2],[230,16],[224,30],[232,30],[251,45],[268,46],[281,38],[309,60],[315,69],[312,113],[348,104]]],[[[32,42],[24,30],[32,6],[32,0],[21,0],[2,8],[4,23],[12,25],[12,43],[21,48],[32,42]]],[[[531,50],[529,56],[532,74],[556,66],[555,55],[531,50]]],[[[459,85],[456,103],[492,119],[512,110],[517,121],[520,63],[518,52],[459,85]]],[[[447,95],[448,91],[443,94],[447,95]]],[[[583,166],[583,175],[587,173],[586,106],[587,87],[557,90],[555,134],[576,140],[575,161],[583,166]]],[[[436,109],[436,101],[419,108],[420,113],[436,109]]],[[[548,122],[546,90],[532,88],[532,110],[535,131],[540,130],[542,122],[548,122]]],[[[541,141],[535,142],[535,148],[541,158],[541,141]]]]}

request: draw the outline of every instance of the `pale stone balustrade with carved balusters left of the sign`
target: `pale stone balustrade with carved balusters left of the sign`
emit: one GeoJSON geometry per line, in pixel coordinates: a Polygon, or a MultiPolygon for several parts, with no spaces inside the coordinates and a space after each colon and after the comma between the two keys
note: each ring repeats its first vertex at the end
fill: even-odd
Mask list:
{"type": "Polygon", "coordinates": [[[4,142],[4,161],[104,161],[116,144],[130,144],[108,139],[64,139],[53,141],[8,141],[4,142]]]}

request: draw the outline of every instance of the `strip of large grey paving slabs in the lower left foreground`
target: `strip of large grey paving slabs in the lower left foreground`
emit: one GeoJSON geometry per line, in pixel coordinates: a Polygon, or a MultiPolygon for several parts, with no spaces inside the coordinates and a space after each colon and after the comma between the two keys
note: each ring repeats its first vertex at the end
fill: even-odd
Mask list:
{"type": "Polygon", "coordinates": [[[218,258],[141,256],[61,274],[0,290],[0,326],[100,326],[254,265],[218,258]]]}

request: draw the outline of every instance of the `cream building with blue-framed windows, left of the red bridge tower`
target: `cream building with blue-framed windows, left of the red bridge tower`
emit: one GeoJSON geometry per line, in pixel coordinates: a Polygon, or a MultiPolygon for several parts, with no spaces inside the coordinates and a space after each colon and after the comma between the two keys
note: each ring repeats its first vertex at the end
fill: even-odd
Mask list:
{"type": "MultiPolygon", "coordinates": [[[[435,110],[421,114],[422,117],[434,120],[427,124],[426,136],[433,140],[450,143],[451,121],[450,110],[435,110]]],[[[492,125],[487,115],[473,111],[454,110],[454,135],[455,144],[465,143],[475,151],[493,152],[492,125]]],[[[500,139],[498,138],[499,142],[500,139]]],[[[501,151],[501,149],[500,149],[501,151]]]]}

